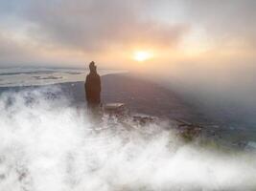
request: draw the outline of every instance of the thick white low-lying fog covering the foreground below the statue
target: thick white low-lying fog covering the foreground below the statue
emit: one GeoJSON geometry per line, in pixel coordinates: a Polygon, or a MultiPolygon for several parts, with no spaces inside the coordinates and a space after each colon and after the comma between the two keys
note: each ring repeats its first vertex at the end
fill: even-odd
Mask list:
{"type": "Polygon", "coordinates": [[[185,144],[164,122],[94,125],[58,88],[4,93],[0,111],[3,191],[256,188],[255,154],[185,144]]]}

